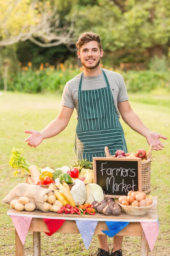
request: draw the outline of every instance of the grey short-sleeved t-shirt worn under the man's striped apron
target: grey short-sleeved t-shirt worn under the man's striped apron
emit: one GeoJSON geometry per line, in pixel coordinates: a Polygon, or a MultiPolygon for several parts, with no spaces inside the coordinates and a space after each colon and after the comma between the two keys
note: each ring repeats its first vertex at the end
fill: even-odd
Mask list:
{"type": "MultiPolygon", "coordinates": [[[[111,92],[113,95],[114,104],[116,107],[116,111],[118,117],[120,117],[120,113],[117,107],[117,104],[129,99],[127,96],[127,90],[125,86],[125,82],[123,80],[122,75],[119,73],[105,70],[105,74],[108,78],[111,92]]],[[[77,116],[78,116],[78,90],[79,90],[79,82],[82,73],[78,76],[75,76],[73,79],[69,80],[64,87],[61,99],[61,106],[65,106],[68,108],[76,108],[77,116]]],[[[82,90],[96,90],[102,87],[106,87],[106,83],[103,77],[103,74],[99,76],[83,76],[82,79],[82,90]]]]}

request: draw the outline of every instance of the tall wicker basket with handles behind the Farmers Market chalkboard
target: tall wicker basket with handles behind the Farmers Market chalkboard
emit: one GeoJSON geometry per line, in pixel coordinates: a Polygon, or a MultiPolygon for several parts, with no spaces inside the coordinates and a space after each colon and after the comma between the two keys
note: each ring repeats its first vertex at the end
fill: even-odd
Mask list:
{"type": "MultiPolygon", "coordinates": [[[[142,192],[149,195],[151,192],[150,186],[150,175],[151,175],[151,162],[152,162],[152,150],[153,145],[150,145],[149,152],[146,156],[146,161],[142,161],[142,192]]],[[[106,157],[115,157],[115,155],[111,156],[109,153],[108,147],[105,147],[105,155],[106,157]]]]}

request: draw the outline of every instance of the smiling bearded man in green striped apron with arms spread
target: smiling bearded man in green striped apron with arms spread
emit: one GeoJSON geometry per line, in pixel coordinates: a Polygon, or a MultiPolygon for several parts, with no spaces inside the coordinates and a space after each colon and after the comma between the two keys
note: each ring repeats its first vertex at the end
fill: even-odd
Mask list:
{"type": "MultiPolygon", "coordinates": [[[[76,108],[77,159],[92,161],[93,157],[104,157],[105,146],[108,146],[112,155],[117,149],[127,152],[124,131],[119,122],[120,115],[130,128],[146,137],[147,143],[152,144],[155,150],[164,148],[159,138],[166,140],[167,137],[150,131],[131,109],[122,76],[101,69],[103,50],[99,35],[85,32],[79,37],[76,46],[84,71],[66,83],[57,118],[40,132],[25,131],[31,134],[26,139],[27,145],[36,148],[42,140],[59,134],[68,125],[76,108]]],[[[98,238],[100,248],[97,256],[110,256],[107,236],[99,235],[98,238]]],[[[111,256],[122,256],[122,239],[122,236],[114,237],[111,256]]]]}

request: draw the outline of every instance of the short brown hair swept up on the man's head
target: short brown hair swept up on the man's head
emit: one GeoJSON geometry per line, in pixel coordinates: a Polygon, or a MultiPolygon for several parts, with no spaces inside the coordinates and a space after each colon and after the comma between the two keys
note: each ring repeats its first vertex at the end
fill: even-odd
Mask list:
{"type": "Polygon", "coordinates": [[[102,49],[102,41],[99,35],[95,34],[94,32],[84,32],[82,35],[79,36],[79,39],[76,43],[76,47],[80,49],[83,44],[88,43],[90,41],[96,41],[98,43],[99,49],[102,49]]]}

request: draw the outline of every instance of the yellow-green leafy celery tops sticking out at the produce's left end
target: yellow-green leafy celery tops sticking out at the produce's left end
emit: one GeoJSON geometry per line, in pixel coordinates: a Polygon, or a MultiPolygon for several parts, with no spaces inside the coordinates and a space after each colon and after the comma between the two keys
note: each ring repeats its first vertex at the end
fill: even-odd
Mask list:
{"type": "Polygon", "coordinates": [[[25,170],[29,173],[29,166],[31,166],[31,164],[28,163],[25,157],[21,155],[23,151],[23,148],[12,148],[12,154],[9,160],[9,165],[15,169],[14,176],[17,176],[17,174],[19,173],[18,168],[21,169],[22,174],[24,174],[25,170]]]}

